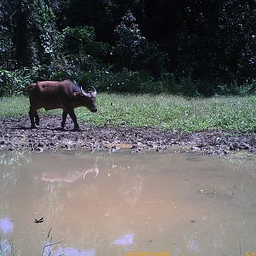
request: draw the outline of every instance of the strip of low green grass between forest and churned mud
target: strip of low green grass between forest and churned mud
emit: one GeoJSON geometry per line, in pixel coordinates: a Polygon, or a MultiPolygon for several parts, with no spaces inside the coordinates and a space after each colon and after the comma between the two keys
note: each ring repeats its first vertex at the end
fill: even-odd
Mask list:
{"type": "MultiPolygon", "coordinates": [[[[98,113],[77,108],[79,122],[90,125],[151,126],[172,131],[256,131],[256,96],[218,96],[187,99],[170,95],[100,94],[98,113]]],[[[27,115],[28,99],[0,99],[0,116],[27,115]]],[[[60,114],[61,110],[41,111],[60,114]]]]}

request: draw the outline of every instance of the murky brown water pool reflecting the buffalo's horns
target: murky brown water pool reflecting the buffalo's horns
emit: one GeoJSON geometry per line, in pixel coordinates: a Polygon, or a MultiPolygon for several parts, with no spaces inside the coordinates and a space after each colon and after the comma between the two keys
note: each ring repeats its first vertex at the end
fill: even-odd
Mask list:
{"type": "Polygon", "coordinates": [[[22,256],[256,252],[255,163],[249,155],[0,152],[2,250],[22,256]],[[48,234],[52,246],[44,248],[48,234]]]}

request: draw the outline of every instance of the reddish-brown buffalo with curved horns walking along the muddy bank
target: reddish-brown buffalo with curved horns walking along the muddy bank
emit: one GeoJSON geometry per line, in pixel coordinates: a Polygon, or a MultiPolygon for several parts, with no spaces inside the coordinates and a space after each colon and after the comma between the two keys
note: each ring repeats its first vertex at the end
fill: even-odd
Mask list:
{"type": "MultiPolygon", "coordinates": [[[[93,86],[92,86],[93,87],[93,86]]],[[[82,86],[73,84],[69,80],[44,81],[37,84],[28,85],[27,91],[30,101],[29,117],[31,128],[37,128],[39,125],[38,109],[45,110],[62,108],[61,128],[64,129],[67,119],[67,113],[73,120],[73,131],[80,131],[74,108],[85,107],[91,112],[97,111],[96,107],[96,89],[85,91],[82,86]]]]}

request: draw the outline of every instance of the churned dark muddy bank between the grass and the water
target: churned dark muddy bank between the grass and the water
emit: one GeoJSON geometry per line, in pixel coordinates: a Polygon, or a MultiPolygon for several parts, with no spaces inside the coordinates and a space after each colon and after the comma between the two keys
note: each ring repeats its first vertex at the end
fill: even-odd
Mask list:
{"type": "Polygon", "coordinates": [[[256,133],[199,131],[193,133],[161,131],[153,128],[92,127],[81,124],[82,131],[71,131],[67,120],[65,131],[58,128],[61,117],[41,119],[38,129],[29,129],[28,117],[0,119],[0,149],[35,151],[81,149],[92,151],[119,148],[131,153],[150,151],[197,151],[201,154],[230,154],[238,150],[256,152],[256,133]]]}

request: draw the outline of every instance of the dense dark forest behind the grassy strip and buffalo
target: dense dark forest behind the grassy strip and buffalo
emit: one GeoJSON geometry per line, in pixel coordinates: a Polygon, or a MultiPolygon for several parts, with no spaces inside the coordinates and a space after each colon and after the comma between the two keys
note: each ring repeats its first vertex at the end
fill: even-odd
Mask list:
{"type": "Polygon", "coordinates": [[[254,0],[0,0],[0,96],[38,80],[189,96],[256,87],[254,0]]]}

